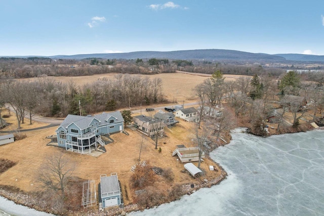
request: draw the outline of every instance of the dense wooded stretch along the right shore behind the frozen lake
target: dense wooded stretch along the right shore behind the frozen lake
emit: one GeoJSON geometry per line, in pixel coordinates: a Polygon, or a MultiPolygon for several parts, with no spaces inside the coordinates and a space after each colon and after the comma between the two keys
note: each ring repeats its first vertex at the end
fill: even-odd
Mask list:
{"type": "MultiPolygon", "coordinates": [[[[317,73],[316,77],[324,77],[324,74],[317,73]]],[[[289,71],[279,79],[273,79],[267,74],[255,74],[252,78],[240,77],[228,81],[223,78],[220,71],[216,71],[211,78],[196,85],[192,91],[199,99],[199,109],[207,108],[207,112],[199,113],[200,121],[212,125],[217,138],[226,130],[224,128],[230,128],[231,122],[238,118],[245,119],[253,134],[262,136],[266,135],[265,127],[270,116],[276,116],[278,119],[276,122],[278,133],[287,129],[283,124],[287,120],[285,115],[287,112],[291,112],[292,126],[296,130],[301,129],[299,121],[306,115],[312,116],[316,122],[323,119],[322,83],[311,81],[307,76],[295,71],[289,71]],[[273,103],[278,105],[277,109],[273,108],[273,103]],[[223,116],[211,118],[211,110],[220,109],[224,104],[227,104],[228,108],[223,110],[223,116]],[[226,109],[232,109],[235,119],[226,109]]]]}

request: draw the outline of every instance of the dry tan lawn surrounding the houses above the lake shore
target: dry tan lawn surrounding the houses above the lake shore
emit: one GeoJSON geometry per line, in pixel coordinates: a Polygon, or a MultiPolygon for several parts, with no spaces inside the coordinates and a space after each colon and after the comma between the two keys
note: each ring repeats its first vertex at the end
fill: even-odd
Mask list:
{"type": "MultiPolygon", "coordinates": [[[[203,178],[192,179],[187,173],[181,172],[184,169],[184,164],[180,161],[177,163],[177,157],[172,157],[172,152],[175,150],[176,145],[184,144],[187,147],[193,146],[190,138],[187,137],[190,127],[190,123],[180,121],[177,126],[170,129],[167,128],[167,137],[161,138],[158,141],[158,147],[162,149],[161,153],[155,150],[153,140],[147,137],[144,138],[141,161],[148,160],[152,166],[163,169],[171,167],[175,174],[175,181],[168,183],[170,186],[176,183],[199,184],[205,178],[211,180],[220,175],[220,172],[209,170],[209,165],[217,166],[217,164],[208,158],[205,158],[205,162],[201,164],[201,167],[206,171],[206,176],[203,178]]],[[[122,133],[113,134],[111,138],[114,142],[105,146],[107,152],[98,157],[92,157],[67,152],[65,149],[59,147],[47,146],[50,140],[46,139],[46,137],[55,134],[56,128],[51,127],[24,132],[27,135],[26,139],[0,146],[1,158],[17,163],[17,165],[0,175],[1,185],[15,186],[27,192],[40,190],[36,181],[36,175],[40,165],[44,162],[46,156],[63,152],[75,164],[73,176],[86,180],[95,180],[98,184],[101,174],[110,175],[111,172],[117,172],[124,194],[125,204],[133,201],[134,189],[130,188],[129,182],[132,175],[130,169],[132,165],[138,162],[140,143],[142,140],[141,134],[129,128],[126,129],[129,136],[122,133]],[[127,196],[125,194],[126,191],[127,196]]],[[[195,164],[197,165],[197,163],[195,164]]]]}

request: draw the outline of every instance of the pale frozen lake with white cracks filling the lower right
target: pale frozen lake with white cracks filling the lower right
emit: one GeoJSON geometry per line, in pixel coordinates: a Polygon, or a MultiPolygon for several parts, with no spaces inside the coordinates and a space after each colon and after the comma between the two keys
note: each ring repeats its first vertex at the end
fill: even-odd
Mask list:
{"type": "Polygon", "coordinates": [[[228,172],[220,185],[132,215],[324,215],[324,131],[237,131],[211,153],[228,172]]]}

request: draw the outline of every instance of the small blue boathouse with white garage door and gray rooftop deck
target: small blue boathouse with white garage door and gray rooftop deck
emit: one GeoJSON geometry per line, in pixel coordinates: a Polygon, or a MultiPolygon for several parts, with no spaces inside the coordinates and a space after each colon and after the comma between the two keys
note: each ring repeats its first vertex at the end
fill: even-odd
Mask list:
{"type": "Polygon", "coordinates": [[[116,173],[100,175],[100,192],[103,208],[123,204],[116,173]]]}

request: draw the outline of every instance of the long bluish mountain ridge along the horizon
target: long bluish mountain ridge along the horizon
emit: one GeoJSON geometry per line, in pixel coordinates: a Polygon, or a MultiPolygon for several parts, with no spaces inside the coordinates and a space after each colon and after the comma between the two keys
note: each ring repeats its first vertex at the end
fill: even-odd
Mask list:
{"type": "Polygon", "coordinates": [[[249,53],[236,50],[223,49],[198,49],[198,50],[180,50],[180,51],[136,51],[129,53],[97,53],[97,54],[76,54],[76,55],[55,55],[55,56],[1,56],[6,58],[30,58],[43,57],[52,59],[85,59],[85,58],[103,58],[103,59],[150,59],[166,58],[177,60],[206,60],[206,61],[254,61],[254,62],[286,62],[286,61],[304,61],[304,62],[324,62],[324,56],[305,55],[305,54],[265,54],[249,53]]]}

